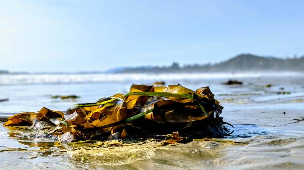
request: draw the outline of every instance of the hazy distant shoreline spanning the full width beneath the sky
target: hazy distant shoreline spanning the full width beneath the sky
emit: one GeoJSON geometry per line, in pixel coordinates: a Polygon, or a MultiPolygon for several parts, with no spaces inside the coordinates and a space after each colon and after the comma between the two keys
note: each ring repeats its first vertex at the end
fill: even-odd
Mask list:
{"type": "Polygon", "coordinates": [[[1,74],[103,74],[103,73],[256,73],[256,72],[304,72],[304,56],[294,58],[264,57],[252,54],[240,54],[227,61],[216,64],[188,64],[180,66],[174,62],[170,66],[119,67],[108,71],[80,72],[9,72],[1,74]]]}

